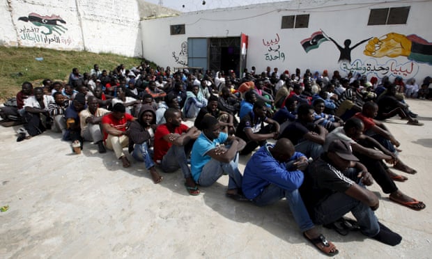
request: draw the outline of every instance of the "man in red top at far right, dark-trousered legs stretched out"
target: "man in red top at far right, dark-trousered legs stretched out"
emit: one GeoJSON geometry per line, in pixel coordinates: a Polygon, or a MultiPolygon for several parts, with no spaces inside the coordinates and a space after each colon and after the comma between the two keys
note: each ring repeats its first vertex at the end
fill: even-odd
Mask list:
{"type": "MultiPolygon", "coordinates": [[[[394,138],[392,133],[387,129],[387,127],[385,127],[384,123],[373,119],[376,117],[377,113],[378,105],[375,102],[365,102],[362,112],[355,113],[354,117],[362,120],[364,124],[364,134],[366,134],[367,136],[371,136],[373,139],[378,141],[378,143],[383,145],[384,148],[397,156],[398,153],[396,152],[396,148],[399,147],[401,143],[399,143],[399,141],[394,138]]],[[[410,166],[407,166],[406,164],[403,164],[403,162],[399,158],[396,159],[396,164],[394,164],[393,167],[405,173],[417,173],[415,169],[410,168],[410,166]]]]}

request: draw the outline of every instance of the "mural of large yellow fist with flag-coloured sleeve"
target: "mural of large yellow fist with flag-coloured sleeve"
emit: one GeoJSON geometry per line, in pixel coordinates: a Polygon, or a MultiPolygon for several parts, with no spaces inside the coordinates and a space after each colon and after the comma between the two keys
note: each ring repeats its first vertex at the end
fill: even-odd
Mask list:
{"type": "Polygon", "coordinates": [[[415,34],[405,36],[387,33],[380,38],[374,37],[369,40],[363,53],[376,58],[406,56],[410,61],[432,65],[432,42],[415,34]]]}

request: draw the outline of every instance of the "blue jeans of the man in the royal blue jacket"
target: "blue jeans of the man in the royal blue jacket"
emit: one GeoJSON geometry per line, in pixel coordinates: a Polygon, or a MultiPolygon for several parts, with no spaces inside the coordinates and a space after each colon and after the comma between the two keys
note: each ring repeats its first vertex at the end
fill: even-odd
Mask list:
{"type": "Polygon", "coordinates": [[[294,191],[287,191],[286,189],[282,189],[277,185],[270,184],[265,187],[259,196],[254,198],[253,202],[256,205],[265,206],[275,203],[281,198],[286,198],[291,213],[293,213],[295,223],[297,223],[302,232],[314,228],[314,223],[309,217],[309,213],[304,206],[302,196],[300,196],[298,189],[294,191]]]}

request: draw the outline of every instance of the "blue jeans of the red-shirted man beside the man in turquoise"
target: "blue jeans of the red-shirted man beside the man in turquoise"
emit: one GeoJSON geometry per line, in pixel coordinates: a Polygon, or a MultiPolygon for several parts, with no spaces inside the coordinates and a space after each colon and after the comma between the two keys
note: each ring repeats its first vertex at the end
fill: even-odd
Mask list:
{"type": "Polygon", "coordinates": [[[187,166],[187,155],[185,146],[173,145],[169,148],[167,154],[164,155],[161,162],[162,170],[165,173],[172,173],[181,168],[185,178],[191,178],[190,168],[187,166]]]}

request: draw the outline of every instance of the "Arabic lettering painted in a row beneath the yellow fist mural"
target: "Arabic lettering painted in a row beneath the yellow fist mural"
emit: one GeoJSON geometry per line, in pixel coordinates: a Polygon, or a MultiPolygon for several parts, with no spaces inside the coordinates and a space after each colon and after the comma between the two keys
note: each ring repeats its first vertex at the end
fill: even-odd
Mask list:
{"type": "Polygon", "coordinates": [[[375,74],[378,78],[387,77],[415,77],[419,72],[419,65],[414,61],[398,63],[394,59],[389,59],[385,63],[378,63],[375,58],[369,58],[366,61],[356,59],[353,63],[342,62],[340,65],[344,72],[353,74],[375,74]]]}

